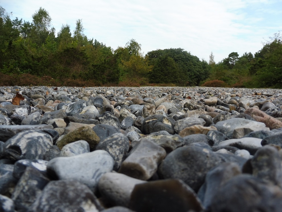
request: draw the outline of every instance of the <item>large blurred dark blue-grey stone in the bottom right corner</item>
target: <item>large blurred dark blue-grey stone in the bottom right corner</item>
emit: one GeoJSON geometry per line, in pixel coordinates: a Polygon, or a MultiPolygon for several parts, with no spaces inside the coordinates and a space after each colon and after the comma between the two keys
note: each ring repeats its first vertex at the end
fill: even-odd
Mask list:
{"type": "Polygon", "coordinates": [[[240,174],[219,189],[210,205],[211,212],[279,212],[282,190],[250,175],[240,174]]]}

